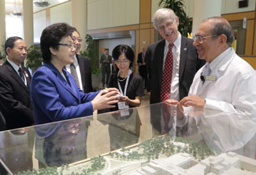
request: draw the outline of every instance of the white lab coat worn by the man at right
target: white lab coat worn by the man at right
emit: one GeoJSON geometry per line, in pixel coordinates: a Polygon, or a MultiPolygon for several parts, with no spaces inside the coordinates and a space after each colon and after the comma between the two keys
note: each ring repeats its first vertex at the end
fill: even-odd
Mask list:
{"type": "Polygon", "coordinates": [[[206,109],[226,111],[235,114],[251,115],[256,113],[256,75],[245,60],[228,48],[221,53],[221,59],[213,68],[210,76],[215,81],[202,83],[200,76],[203,66],[195,75],[189,96],[195,94],[206,100],[206,109]]]}

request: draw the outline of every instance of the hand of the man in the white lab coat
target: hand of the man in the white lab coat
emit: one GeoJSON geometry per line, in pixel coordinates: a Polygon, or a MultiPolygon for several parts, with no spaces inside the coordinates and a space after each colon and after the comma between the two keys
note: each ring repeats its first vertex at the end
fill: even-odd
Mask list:
{"type": "Polygon", "coordinates": [[[184,97],[182,100],[180,100],[180,104],[179,104],[180,107],[195,106],[195,107],[202,107],[202,108],[204,108],[205,105],[206,105],[206,100],[195,95],[184,97]]]}

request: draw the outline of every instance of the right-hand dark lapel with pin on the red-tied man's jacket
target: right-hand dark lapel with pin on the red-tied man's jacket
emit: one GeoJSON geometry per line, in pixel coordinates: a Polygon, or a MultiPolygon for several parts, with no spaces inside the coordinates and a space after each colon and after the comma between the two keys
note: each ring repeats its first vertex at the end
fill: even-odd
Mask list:
{"type": "Polygon", "coordinates": [[[184,68],[187,62],[187,53],[188,53],[187,41],[184,36],[181,36],[181,46],[180,46],[180,67],[179,67],[179,82],[181,82],[181,78],[184,72],[184,68]]]}

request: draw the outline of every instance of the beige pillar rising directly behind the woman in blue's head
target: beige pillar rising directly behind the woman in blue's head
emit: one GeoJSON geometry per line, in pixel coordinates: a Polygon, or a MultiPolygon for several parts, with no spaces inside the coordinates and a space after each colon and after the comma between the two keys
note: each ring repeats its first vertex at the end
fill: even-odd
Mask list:
{"type": "Polygon", "coordinates": [[[86,49],[85,36],[87,34],[87,0],[71,0],[72,26],[79,31],[81,38],[81,51],[86,49]]]}

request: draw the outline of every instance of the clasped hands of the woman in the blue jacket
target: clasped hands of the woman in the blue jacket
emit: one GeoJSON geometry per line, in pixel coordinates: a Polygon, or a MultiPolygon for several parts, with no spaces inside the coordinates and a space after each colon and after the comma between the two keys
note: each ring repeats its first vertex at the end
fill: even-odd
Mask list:
{"type": "Polygon", "coordinates": [[[117,104],[120,99],[119,95],[119,90],[116,88],[103,89],[98,93],[95,99],[91,101],[93,110],[115,108],[113,104],[117,104]]]}

